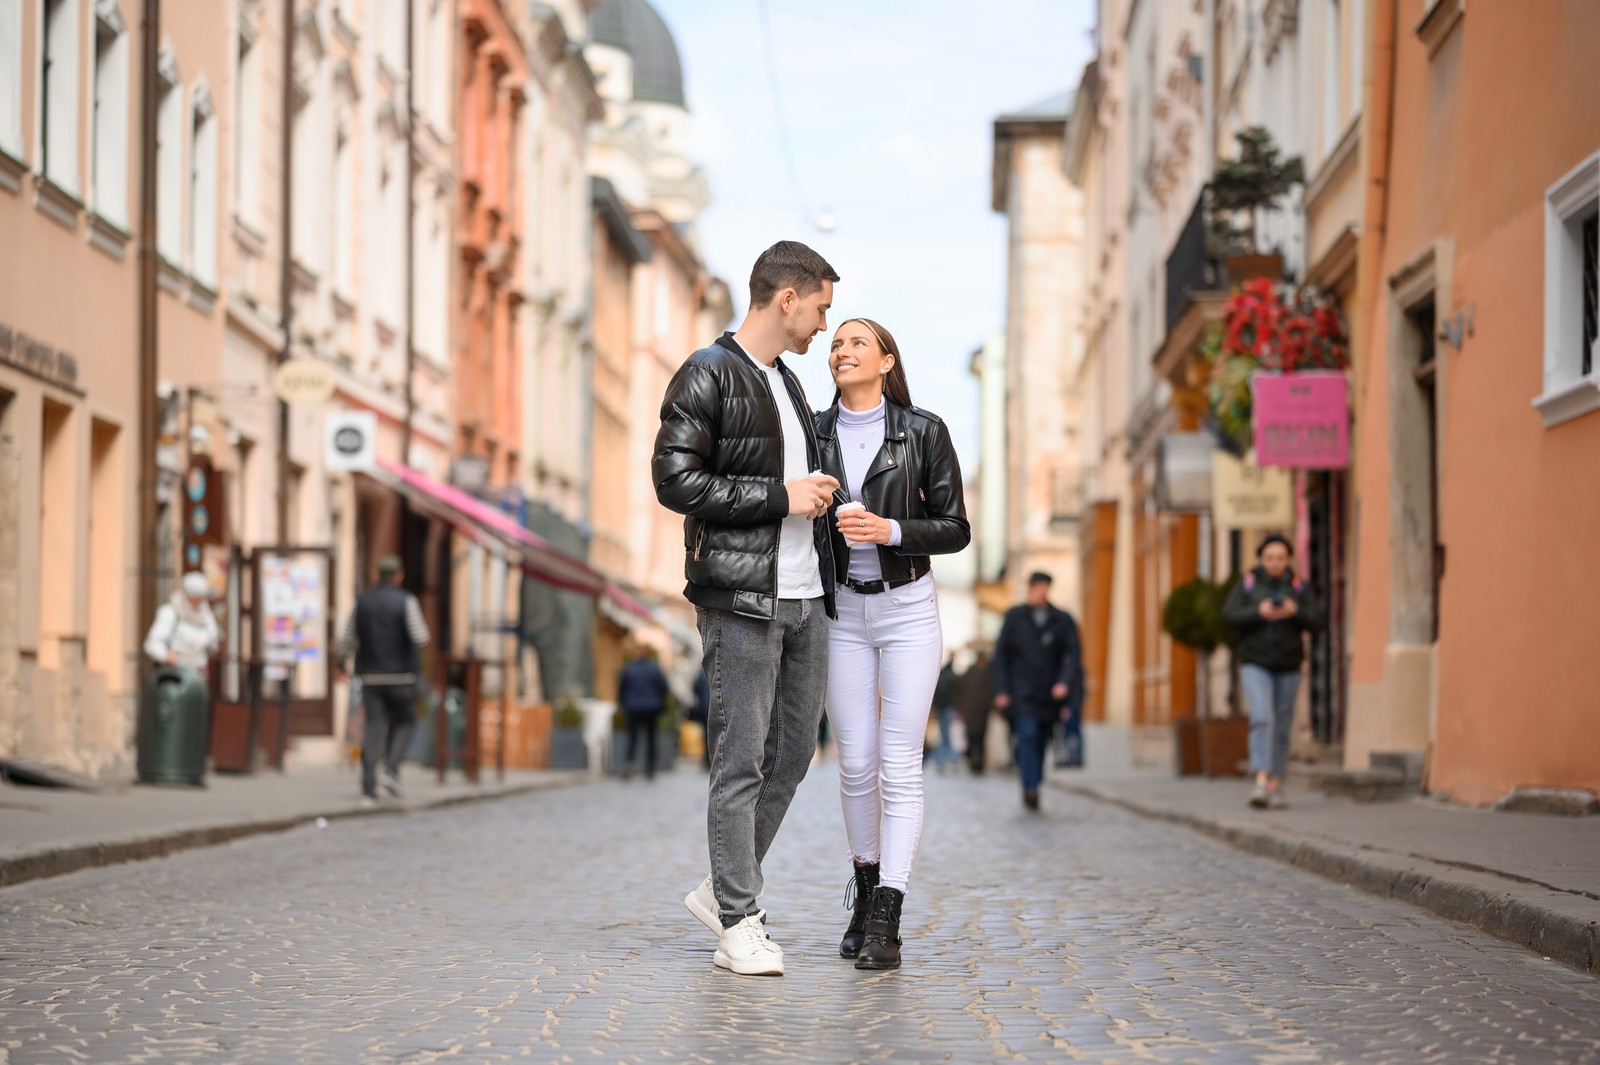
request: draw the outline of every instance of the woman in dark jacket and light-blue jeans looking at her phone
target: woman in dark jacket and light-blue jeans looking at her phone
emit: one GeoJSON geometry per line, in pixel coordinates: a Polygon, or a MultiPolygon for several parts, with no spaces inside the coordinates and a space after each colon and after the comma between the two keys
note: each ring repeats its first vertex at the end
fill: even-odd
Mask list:
{"type": "Polygon", "coordinates": [[[1299,667],[1306,660],[1302,633],[1322,628],[1322,609],[1294,576],[1294,548],[1269,536],[1256,548],[1258,566],[1245,574],[1222,606],[1222,620],[1238,633],[1238,683],[1250,710],[1250,771],[1256,787],[1250,804],[1282,809],[1283,771],[1290,761],[1290,726],[1299,667]]]}

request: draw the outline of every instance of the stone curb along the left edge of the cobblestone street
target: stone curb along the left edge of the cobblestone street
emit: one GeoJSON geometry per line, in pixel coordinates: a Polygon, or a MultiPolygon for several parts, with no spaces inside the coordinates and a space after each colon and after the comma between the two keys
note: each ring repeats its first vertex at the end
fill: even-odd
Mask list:
{"type": "Polygon", "coordinates": [[[214,848],[221,843],[232,843],[246,836],[259,836],[274,832],[288,832],[301,825],[314,824],[318,817],[328,820],[350,820],[355,817],[387,817],[394,814],[421,814],[424,811],[464,806],[467,803],[486,803],[490,800],[515,798],[530,792],[568,787],[587,779],[584,774],[552,777],[547,780],[531,780],[517,784],[498,792],[467,792],[464,795],[448,795],[438,800],[413,803],[406,806],[378,806],[373,809],[339,808],[322,812],[293,814],[290,817],[272,817],[266,820],[246,820],[232,825],[206,825],[203,828],[182,828],[178,832],[136,836],[131,840],[114,840],[109,843],[83,843],[77,846],[37,851],[34,854],[18,854],[0,857],[0,889],[13,888],[30,880],[46,876],[66,876],[85,868],[101,865],[120,865],[122,862],[142,862],[146,859],[192,851],[195,848],[214,848]]]}

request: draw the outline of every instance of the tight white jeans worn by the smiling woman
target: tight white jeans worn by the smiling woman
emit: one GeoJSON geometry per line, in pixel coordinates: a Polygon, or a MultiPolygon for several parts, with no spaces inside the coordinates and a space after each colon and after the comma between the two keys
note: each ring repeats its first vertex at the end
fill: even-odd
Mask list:
{"type": "Polygon", "coordinates": [[[931,574],[878,595],[838,588],[827,720],[838,744],[845,832],[851,854],[878,862],[878,883],[899,891],[922,840],[922,747],[942,657],[931,574]]]}

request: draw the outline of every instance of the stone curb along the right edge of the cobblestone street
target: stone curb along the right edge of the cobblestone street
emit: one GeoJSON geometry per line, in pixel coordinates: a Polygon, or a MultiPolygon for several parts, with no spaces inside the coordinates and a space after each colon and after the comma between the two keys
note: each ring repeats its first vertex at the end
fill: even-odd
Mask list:
{"type": "Polygon", "coordinates": [[[1590,899],[1534,884],[1515,884],[1504,876],[1426,859],[1224,824],[1200,814],[1162,809],[1109,795],[1093,785],[1056,782],[1054,787],[1120,806],[1141,817],[1184,825],[1242,851],[1286,862],[1374,895],[1422,907],[1437,916],[1470,924],[1574,969],[1600,974],[1600,916],[1597,916],[1600,903],[1590,899]],[[1520,891],[1510,891],[1512,886],[1520,891]]]}

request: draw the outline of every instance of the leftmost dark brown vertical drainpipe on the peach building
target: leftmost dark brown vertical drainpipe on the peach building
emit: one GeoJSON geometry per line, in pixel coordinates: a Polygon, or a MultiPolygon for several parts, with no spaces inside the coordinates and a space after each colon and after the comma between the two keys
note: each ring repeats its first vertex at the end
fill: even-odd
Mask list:
{"type": "Polygon", "coordinates": [[[141,26],[141,99],[139,99],[139,633],[155,620],[157,505],[155,505],[155,435],[160,432],[157,387],[155,329],[155,88],[160,64],[162,0],[144,0],[141,26]]]}

